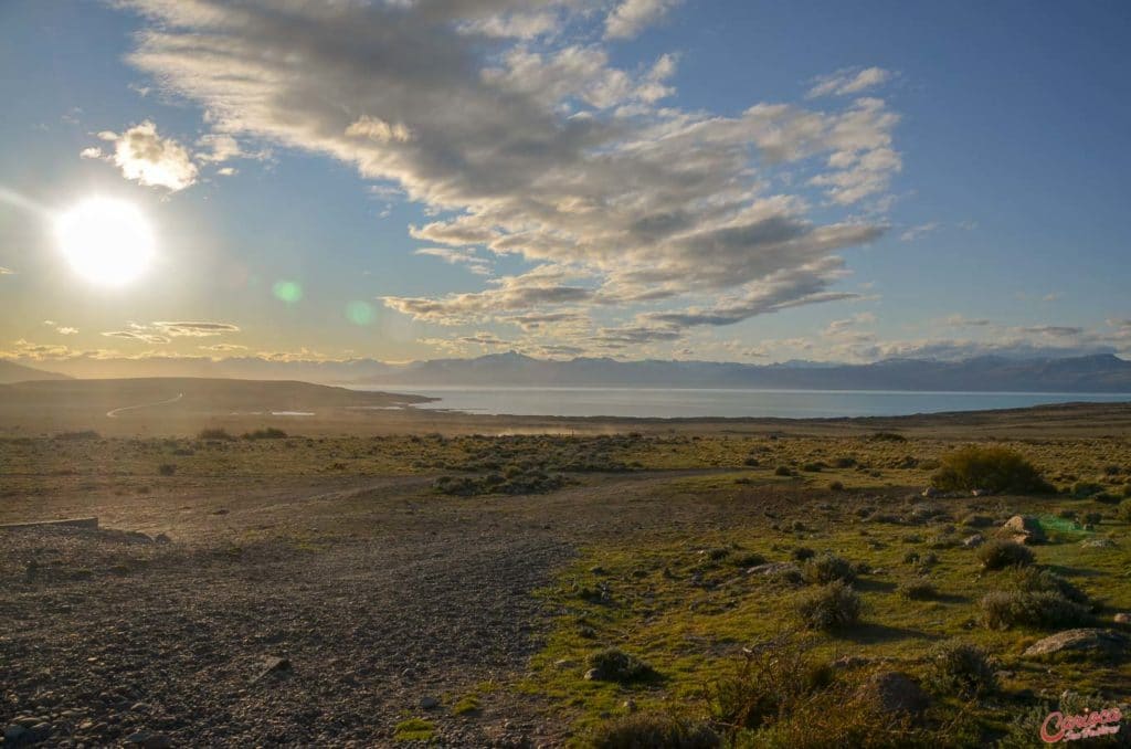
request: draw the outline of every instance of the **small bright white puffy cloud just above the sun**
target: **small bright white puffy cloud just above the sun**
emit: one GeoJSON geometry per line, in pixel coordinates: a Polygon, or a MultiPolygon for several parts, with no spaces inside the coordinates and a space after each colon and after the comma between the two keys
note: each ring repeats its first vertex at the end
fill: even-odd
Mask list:
{"type": "MultiPolygon", "coordinates": [[[[172,138],[162,138],[149,120],[135,124],[126,132],[103,131],[103,140],[114,144],[114,153],[105,156],[122,171],[122,177],[146,187],[162,187],[171,192],[191,187],[197,181],[197,165],[184,146],[172,138]]],[[[86,148],[84,158],[100,158],[102,150],[86,148]]]]}

